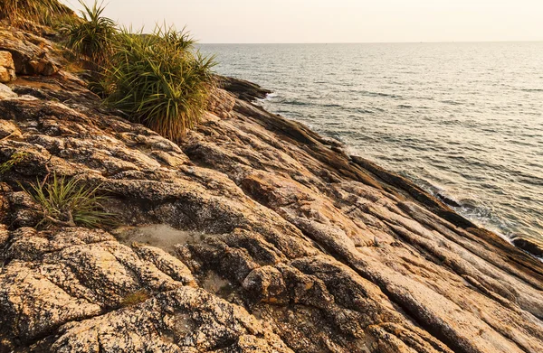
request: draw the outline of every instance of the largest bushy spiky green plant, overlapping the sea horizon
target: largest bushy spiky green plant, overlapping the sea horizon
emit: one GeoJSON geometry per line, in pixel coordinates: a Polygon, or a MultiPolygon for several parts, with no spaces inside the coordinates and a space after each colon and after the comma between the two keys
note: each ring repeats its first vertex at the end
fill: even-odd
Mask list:
{"type": "Polygon", "coordinates": [[[179,141],[198,123],[214,88],[214,57],[195,51],[194,43],[173,27],[157,26],[153,34],[121,31],[105,73],[106,103],[179,141]]]}

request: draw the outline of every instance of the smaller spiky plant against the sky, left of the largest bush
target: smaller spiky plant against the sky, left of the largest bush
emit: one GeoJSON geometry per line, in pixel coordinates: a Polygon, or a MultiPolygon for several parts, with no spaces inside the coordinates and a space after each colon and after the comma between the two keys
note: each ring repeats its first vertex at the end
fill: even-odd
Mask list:
{"type": "Polygon", "coordinates": [[[62,27],[62,32],[67,35],[66,46],[100,68],[112,52],[117,26],[113,20],[102,16],[105,9],[103,3],[99,5],[95,1],[90,7],[80,0],[80,4],[83,6],[82,19],[74,19],[62,27]]]}

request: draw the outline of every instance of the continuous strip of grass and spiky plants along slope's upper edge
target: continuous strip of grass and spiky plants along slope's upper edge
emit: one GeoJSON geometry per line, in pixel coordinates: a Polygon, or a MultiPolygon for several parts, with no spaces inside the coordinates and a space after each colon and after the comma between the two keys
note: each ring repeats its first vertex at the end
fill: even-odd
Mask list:
{"type": "Polygon", "coordinates": [[[80,2],[84,10],[76,17],[57,0],[0,0],[0,19],[59,25],[66,48],[84,60],[82,67],[90,66],[90,89],[106,105],[180,141],[205,112],[215,86],[214,58],[196,51],[185,30],[164,25],[150,34],[118,31],[102,15],[103,5],[80,2]]]}

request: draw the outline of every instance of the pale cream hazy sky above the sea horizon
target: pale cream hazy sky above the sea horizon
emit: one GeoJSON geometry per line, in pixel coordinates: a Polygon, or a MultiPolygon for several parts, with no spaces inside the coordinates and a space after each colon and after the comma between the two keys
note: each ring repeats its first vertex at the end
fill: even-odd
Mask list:
{"type": "MultiPolygon", "coordinates": [[[[63,0],[80,8],[77,0],[63,0]]],[[[86,0],[91,4],[93,0],[86,0]]],[[[200,42],[543,40],[543,0],[106,0],[105,14],[151,30],[184,25],[200,42]]]]}

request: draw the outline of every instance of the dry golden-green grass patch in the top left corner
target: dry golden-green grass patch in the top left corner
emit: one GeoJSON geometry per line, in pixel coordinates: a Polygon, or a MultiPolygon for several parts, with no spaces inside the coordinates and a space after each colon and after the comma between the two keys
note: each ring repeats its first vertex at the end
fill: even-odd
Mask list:
{"type": "Polygon", "coordinates": [[[73,12],[57,0],[0,0],[0,20],[16,26],[51,24],[54,18],[66,14],[73,12]]]}

